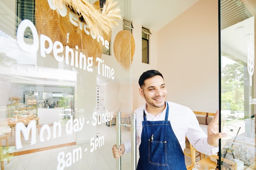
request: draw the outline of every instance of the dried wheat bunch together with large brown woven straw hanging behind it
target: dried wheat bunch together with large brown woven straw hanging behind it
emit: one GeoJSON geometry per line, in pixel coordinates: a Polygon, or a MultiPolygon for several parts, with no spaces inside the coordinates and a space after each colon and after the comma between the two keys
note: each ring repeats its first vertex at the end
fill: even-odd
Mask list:
{"type": "MultiPolygon", "coordinates": [[[[104,40],[110,40],[112,25],[117,25],[116,20],[121,18],[120,9],[115,8],[117,2],[113,2],[113,0],[106,0],[103,8],[92,5],[86,0],[52,1],[60,9],[65,5],[70,12],[79,16],[81,22],[90,27],[93,35],[101,35],[104,40]]],[[[36,28],[39,34],[48,36],[53,42],[60,41],[64,46],[70,48],[78,46],[78,51],[83,52],[87,57],[93,57],[93,63],[96,65],[96,57],[101,58],[102,54],[101,42],[94,40],[79,26],[74,26],[68,15],[62,17],[58,10],[50,9],[47,0],[36,0],[35,11],[36,28]]]]}

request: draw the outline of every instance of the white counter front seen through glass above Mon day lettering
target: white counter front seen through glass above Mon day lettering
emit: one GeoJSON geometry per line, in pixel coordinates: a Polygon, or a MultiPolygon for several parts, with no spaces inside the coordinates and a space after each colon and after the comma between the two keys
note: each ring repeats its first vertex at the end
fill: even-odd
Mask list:
{"type": "Polygon", "coordinates": [[[61,115],[64,113],[63,107],[57,108],[38,108],[37,115],[40,118],[40,125],[53,124],[54,121],[58,121],[61,115]]]}

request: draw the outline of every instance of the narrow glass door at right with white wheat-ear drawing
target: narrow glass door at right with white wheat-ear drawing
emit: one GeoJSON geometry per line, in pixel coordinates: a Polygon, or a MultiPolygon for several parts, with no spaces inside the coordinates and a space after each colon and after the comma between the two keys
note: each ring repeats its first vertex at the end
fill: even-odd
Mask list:
{"type": "Polygon", "coordinates": [[[220,0],[220,169],[255,169],[255,8],[220,0]]]}

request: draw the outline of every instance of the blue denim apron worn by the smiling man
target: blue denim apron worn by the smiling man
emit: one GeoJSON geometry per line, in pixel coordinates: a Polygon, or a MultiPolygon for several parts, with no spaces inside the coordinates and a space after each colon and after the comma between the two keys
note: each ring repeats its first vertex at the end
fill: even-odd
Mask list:
{"type": "Polygon", "coordinates": [[[185,158],[170,121],[147,121],[144,111],[137,170],[186,170],[185,158]]]}

